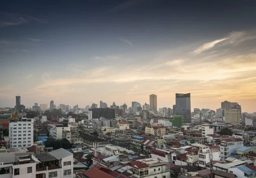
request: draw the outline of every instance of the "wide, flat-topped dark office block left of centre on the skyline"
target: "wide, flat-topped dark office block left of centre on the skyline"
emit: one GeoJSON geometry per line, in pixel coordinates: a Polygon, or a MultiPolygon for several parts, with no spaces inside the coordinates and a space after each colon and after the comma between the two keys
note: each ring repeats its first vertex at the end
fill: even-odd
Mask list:
{"type": "Polygon", "coordinates": [[[115,109],[114,108],[89,108],[89,111],[88,111],[89,120],[99,119],[100,117],[103,117],[105,119],[116,118],[115,109]]]}

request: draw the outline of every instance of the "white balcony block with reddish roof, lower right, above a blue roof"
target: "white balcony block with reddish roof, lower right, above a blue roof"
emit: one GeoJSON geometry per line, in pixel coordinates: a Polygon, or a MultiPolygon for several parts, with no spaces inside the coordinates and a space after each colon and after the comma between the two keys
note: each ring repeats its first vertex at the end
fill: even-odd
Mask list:
{"type": "Polygon", "coordinates": [[[220,139],[221,160],[227,159],[231,153],[236,152],[236,149],[244,146],[244,141],[241,138],[221,138],[220,139]]]}

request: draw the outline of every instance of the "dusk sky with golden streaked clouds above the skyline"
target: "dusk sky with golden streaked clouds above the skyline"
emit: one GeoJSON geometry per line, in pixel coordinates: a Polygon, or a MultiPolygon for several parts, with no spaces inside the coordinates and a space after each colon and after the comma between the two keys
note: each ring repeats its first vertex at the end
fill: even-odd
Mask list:
{"type": "Polygon", "coordinates": [[[255,0],[2,0],[0,107],[50,100],[256,112],[255,0]]]}

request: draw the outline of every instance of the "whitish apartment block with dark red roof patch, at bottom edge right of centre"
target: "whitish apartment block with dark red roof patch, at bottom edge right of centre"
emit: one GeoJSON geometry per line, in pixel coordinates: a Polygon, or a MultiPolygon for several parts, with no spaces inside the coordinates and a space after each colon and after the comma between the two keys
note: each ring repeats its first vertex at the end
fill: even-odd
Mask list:
{"type": "Polygon", "coordinates": [[[127,172],[134,178],[170,178],[169,163],[152,158],[129,162],[127,172]]]}

